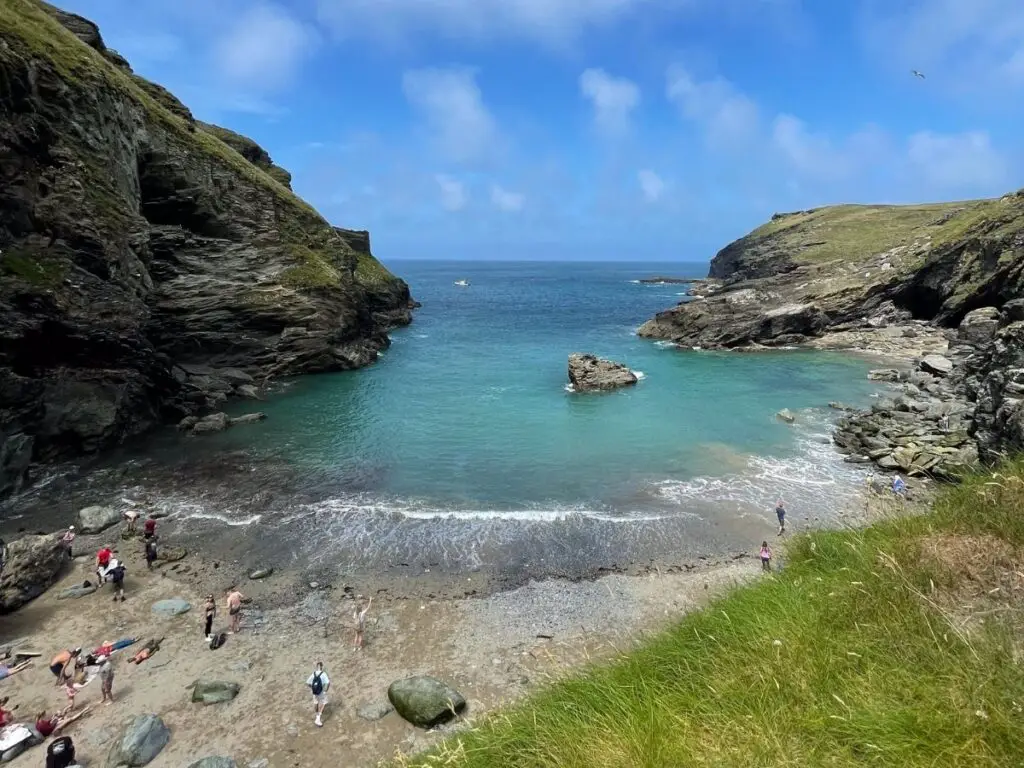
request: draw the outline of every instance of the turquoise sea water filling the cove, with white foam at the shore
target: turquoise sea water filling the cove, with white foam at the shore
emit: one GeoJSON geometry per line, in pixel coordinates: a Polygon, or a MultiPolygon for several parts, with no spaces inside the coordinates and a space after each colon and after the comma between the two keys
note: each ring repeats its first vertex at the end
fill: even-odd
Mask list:
{"type": "MultiPolygon", "coordinates": [[[[264,411],[261,424],[165,437],[151,466],[173,456],[205,468],[161,492],[171,525],[272,532],[303,562],[344,567],[555,567],[571,550],[585,568],[678,551],[681,542],[693,552],[737,534],[760,541],[773,532],[778,496],[795,523],[813,521],[857,484],[859,470],[830,447],[827,403],[868,401],[877,386],[866,360],[680,350],[635,335],[685,288],[638,279],[699,278],[706,265],[391,267],[423,306],[379,364],[232,406],[264,411]],[[470,286],[456,287],[460,279],[470,286]],[[566,391],[573,351],[621,360],[643,378],[612,393],[566,391]],[[796,425],[775,418],[783,408],[796,425]],[[231,457],[231,472],[211,469],[215,457],[231,457]],[[283,468],[287,488],[273,479],[283,468]]],[[[126,483],[90,502],[152,497],[145,481],[126,483]]]]}

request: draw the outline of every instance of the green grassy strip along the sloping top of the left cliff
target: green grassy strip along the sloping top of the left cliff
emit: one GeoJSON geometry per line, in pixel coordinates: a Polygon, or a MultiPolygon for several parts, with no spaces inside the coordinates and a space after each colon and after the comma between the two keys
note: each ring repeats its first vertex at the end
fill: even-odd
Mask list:
{"type": "MultiPolygon", "coordinates": [[[[279,178],[267,170],[253,165],[229,146],[223,137],[198,129],[179,111],[168,106],[166,98],[155,97],[155,88],[143,87],[142,81],[104,57],[99,51],[82,42],[47,12],[37,0],[0,0],[0,61],[16,62],[18,59],[44,59],[69,84],[84,88],[110,88],[140,104],[148,119],[188,151],[206,156],[211,162],[222,164],[248,182],[272,196],[284,218],[290,219],[283,237],[287,242],[303,246],[303,265],[317,262],[312,272],[323,278],[331,273],[331,283],[337,283],[336,259],[332,251],[345,251],[346,247],[332,237],[331,225],[309,204],[299,199],[279,178]],[[322,231],[323,230],[323,231],[322,231]],[[321,237],[322,233],[324,237],[321,237]],[[315,243],[316,247],[312,247],[315,243]]],[[[224,136],[232,131],[224,130],[224,136]]],[[[255,145],[255,142],[253,142],[255,145]]],[[[287,175],[287,172],[285,172],[287,175]]],[[[280,177],[285,180],[284,177],[280,177]]],[[[383,266],[380,267],[384,269],[383,266]]],[[[390,274],[390,273],[388,273],[390,274]]],[[[323,285],[323,280],[316,286],[323,285]]]]}

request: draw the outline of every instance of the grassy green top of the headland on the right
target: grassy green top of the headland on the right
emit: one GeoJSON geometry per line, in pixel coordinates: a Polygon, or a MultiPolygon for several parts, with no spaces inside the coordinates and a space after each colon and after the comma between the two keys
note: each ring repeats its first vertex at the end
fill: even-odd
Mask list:
{"type": "Polygon", "coordinates": [[[758,261],[856,263],[893,249],[927,257],[943,245],[1024,224],[1020,193],[991,200],[926,205],[840,205],[776,214],[715,257],[712,273],[728,276],[758,261]]]}

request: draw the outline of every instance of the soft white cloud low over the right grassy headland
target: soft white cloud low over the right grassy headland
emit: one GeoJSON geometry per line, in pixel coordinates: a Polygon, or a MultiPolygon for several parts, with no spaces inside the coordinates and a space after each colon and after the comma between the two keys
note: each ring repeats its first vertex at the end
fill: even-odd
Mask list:
{"type": "Polygon", "coordinates": [[[984,131],[915,133],[907,141],[907,158],[913,170],[935,186],[992,190],[1009,185],[1008,163],[984,131]]]}

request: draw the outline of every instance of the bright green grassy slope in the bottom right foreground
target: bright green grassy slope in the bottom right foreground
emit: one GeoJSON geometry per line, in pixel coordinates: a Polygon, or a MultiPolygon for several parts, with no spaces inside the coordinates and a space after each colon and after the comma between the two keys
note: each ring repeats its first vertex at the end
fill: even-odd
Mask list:
{"type": "Polygon", "coordinates": [[[1020,569],[1021,509],[1018,462],[967,478],[926,515],[797,537],[774,575],[398,762],[1021,765],[1022,635],[1010,620],[1024,598],[1001,605],[984,581],[995,545],[1020,569]],[[926,556],[935,542],[948,562],[926,556]]]}

